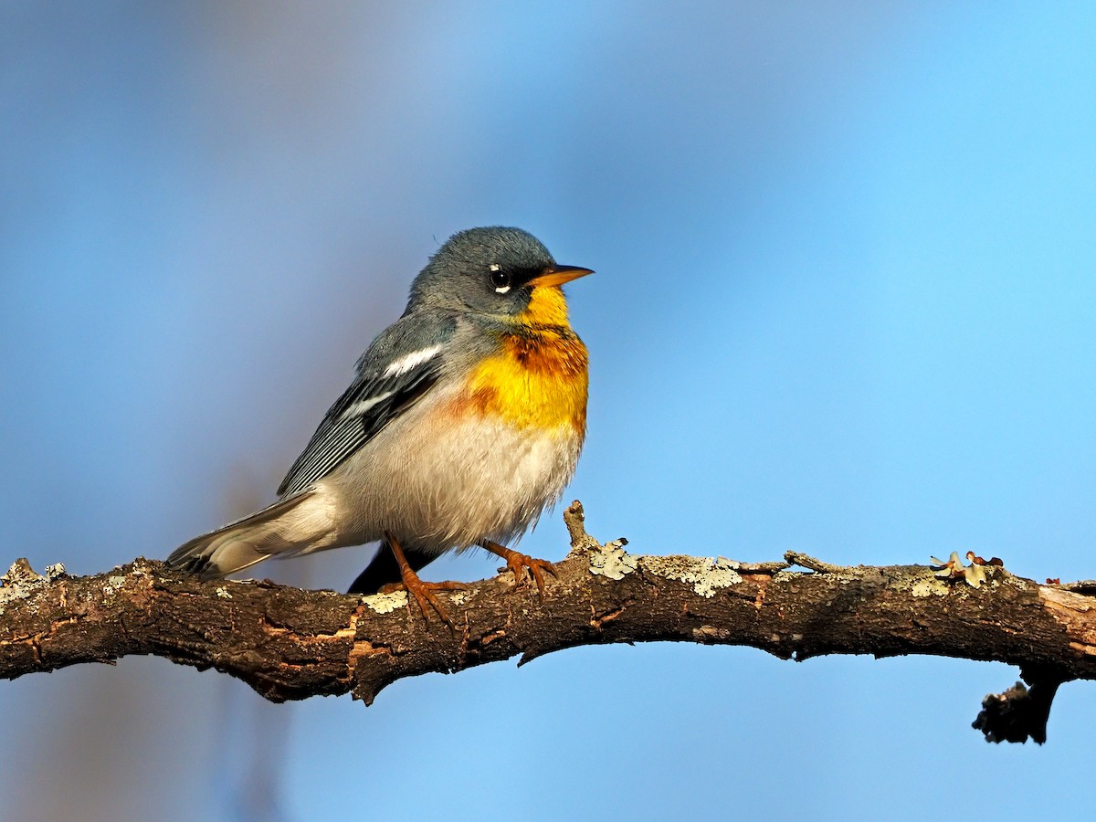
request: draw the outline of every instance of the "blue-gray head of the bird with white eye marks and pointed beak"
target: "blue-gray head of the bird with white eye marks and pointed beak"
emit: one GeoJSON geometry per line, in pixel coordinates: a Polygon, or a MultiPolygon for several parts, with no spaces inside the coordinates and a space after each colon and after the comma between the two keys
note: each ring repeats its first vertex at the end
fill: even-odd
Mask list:
{"type": "Polygon", "coordinates": [[[437,250],[411,284],[408,310],[432,306],[488,315],[517,315],[535,287],[590,274],[557,265],[548,249],[520,228],[470,228],[437,250]]]}

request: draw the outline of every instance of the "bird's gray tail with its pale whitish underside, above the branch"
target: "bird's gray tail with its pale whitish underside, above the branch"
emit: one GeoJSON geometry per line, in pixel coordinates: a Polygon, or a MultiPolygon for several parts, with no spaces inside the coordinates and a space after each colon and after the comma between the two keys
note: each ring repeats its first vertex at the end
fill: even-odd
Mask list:
{"type": "Polygon", "coordinates": [[[168,557],[168,566],[210,580],[242,571],[274,555],[331,547],[331,521],[317,502],[313,491],[275,502],[184,543],[168,557]]]}

